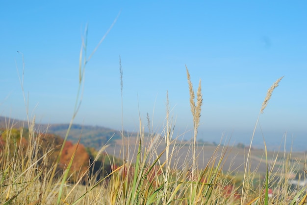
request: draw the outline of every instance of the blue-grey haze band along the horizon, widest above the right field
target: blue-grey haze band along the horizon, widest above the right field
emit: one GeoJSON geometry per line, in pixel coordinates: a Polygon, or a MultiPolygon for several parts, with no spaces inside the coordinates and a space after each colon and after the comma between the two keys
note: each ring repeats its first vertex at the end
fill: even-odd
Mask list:
{"type": "MultiPolygon", "coordinates": [[[[0,117],[5,117],[10,119],[10,123],[16,123],[13,121],[12,118],[8,116],[0,116],[0,117]]],[[[14,120],[22,120],[22,119],[14,119],[14,120]]],[[[23,119],[26,121],[26,119],[23,119]]],[[[23,121],[22,120],[22,121],[23,121]]],[[[44,125],[46,123],[43,122],[35,122],[38,125],[38,128],[40,128],[39,125],[44,125]]],[[[69,124],[69,122],[55,122],[52,124],[47,123],[48,125],[52,124],[69,124]]],[[[78,123],[74,123],[78,124],[78,123]]],[[[103,125],[91,125],[91,124],[78,124],[80,126],[99,126],[99,127],[104,127],[107,129],[113,129],[116,131],[121,131],[121,128],[114,128],[114,127],[106,127],[103,125]]],[[[27,126],[27,124],[26,124],[27,126]]],[[[125,128],[125,127],[124,127],[125,128]]],[[[181,140],[191,140],[192,139],[192,130],[187,130],[186,128],[178,128],[176,125],[176,128],[174,130],[174,135],[173,138],[177,138],[178,141],[181,140]]],[[[144,125],[144,130],[145,132],[149,132],[148,126],[144,125]]],[[[43,130],[42,130],[43,131],[43,130]]],[[[128,133],[137,133],[139,132],[139,128],[135,129],[125,129],[128,133]]],[[[152,131],[152,130],[151,130],[152,131]]],[[[163,135],[164,131],[163,128],[161,130],[153,130],[153,133],[163,135]]],[[[238,143],[243,143],[246,146],[250,145],[251,142],[251,137],[253,134],[253,129],[252,130],[210,130],[210,129],[200,129],[198,132],[197,140],[198,141],[203,141],[203,142],[208,142],[208,143],[215,143],[215,144],[224,144],[224,145],[230,145],[230,146],[236,146],[238,143]]],[[[306,132],[281,132],[281,131],[263,131],[263,137],[266,143],[266,146],[268,150],[270,151],[283,151],[284,148],[286,151],[307,151],[305,144],[307,143],[307,138],[305,137],[307,135],[306,132]],[[284,144],[285,143],[285,144],[284,144]]],[[[64,137],[64,136],[62,136],[64,137]]],[[[257,149],[264,149],[264,142],[263,142],[263,137],[261,134],[261,131],[259,129],[256,130],[255,137],[253,140],[252,146],[257,148],[257,149]]]]}

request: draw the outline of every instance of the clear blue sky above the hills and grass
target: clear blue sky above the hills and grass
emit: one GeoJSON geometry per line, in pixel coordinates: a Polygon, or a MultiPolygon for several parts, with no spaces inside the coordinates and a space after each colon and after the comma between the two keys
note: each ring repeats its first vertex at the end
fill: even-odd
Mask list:
{"type": "MultiPolygon", "coordinates": [[[[29,114],[42,123],[68,123],[78,88],[81,37],[88,56],[75,120],[137,131],[149,114],[165,124],[166,93],[177,133],[192,128],[185,65],[194,89],[202,80],[199,138],[249,142],[268,88],[281,76],[260,124],[267,142],[284,133],[307,143],[306,1],[0,1],[0,115],[26,119],[18,79],[25,59],[29,114]]],[[[186,133],[189,138],[191,133],[186,133]]],[[[262,137],[256,135],[255,143],[262,137]]],[[[304,146],[302,149],[305,149],[304,146]]],[[[307,149],[307,148],[306,148],[307,149]]],[[[305,150],[306,150],[305,149],[305,150]]]]}

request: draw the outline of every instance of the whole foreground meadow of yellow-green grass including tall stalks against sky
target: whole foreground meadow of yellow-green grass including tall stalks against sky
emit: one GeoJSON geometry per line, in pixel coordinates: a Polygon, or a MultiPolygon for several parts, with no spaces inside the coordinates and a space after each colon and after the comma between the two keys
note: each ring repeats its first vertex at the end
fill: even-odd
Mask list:
{"type": "MultiPolygon", "coordinates": [[[[143,122],[140,119],[136,137],[128,136],[122,130],[116,145],[105,143],[79,170],[74,167],[78,147],[81,146],[79,141],[73,146],[66,163],[61,163],[67,137],[82,100],[84,69],[92,56],[87,58],[84,50],[86,44],[82,42],[75,112],[60,146],[46,146],[48,129],[36,132],[35,117],[28,116],[25,122],[27,130],[21,127],[18,138],[13,129],[14,123],[7,119],[6,129],[1,132],[0,138],[1,204],[306,204],[306,184],[291,183],[294,179],[305,181],[304,157],[282,148],[279,152],[268,152],[265,136],[262,150],[252,147],[260,116],[282,77],[267,91],[247,146],[233,147],[227,141],[221,141],[217,146],[198,143],[202,87],[200,81],[194,91],[186,67],[193,116],[191,140],[185,142],[173,135],[175,124],[166,97],[166,122],[161,133],[145,133],[145,126],[152,127],[151,120],[148,118],[143,122]],[[106,172],[101,166],[93,172],[102,157],[105,163],[110,164],[111,170],[106,172]]],[[[124,76],[121,62],[119,68],[122,92],[124,76]]],[[[20,79],[23,90],[23,76],[20,79]]],[[[24,99],[26,103],[25,94],[24,99]]]]}

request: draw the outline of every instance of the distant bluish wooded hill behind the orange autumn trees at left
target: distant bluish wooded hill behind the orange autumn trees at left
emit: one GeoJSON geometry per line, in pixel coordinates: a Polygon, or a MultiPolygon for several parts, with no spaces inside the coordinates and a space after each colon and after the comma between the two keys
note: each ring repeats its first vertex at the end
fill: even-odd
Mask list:
{"type": "MultiPolygon", "coordinates": [[[[27,122],[24,123],[22,120],[9,119],[0,116],[0,128],[6,128],[7,124],[9,127],[20,128],[24,126],[28,128],[27,122]]],[[[65,137],[69,124],[35,124],[35,129],[39,132],[52,133],[61,137],[65,137]]],[[[120,131],[109,129],[101,126],[89,126],[89,125],[78,125],[73,124],[68,140],[73,143],[77,143],[81,135],[80,143],[85,147],[93,147],[100,149],[108,140],[108,144],[115,143],[116,139],[121,139],[120,131]]],[[[127,132],[124,132],[125,136],[128,136],[127,132]]],[[[129,133],[129,136],[136,136],[134,133],[129,133]]]]}

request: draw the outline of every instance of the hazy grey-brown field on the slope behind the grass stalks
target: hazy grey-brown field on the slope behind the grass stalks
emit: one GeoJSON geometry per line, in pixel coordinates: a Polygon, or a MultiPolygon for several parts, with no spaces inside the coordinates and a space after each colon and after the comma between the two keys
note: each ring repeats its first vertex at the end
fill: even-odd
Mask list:
{"type": "MultiPolygon", "coordinates": [[[[145,139],[146,140],[146,139],[145,139]]],[[[149,139],[148,139],[149,141],[149,139]]],[[[144,144],[148,144],[144,142],[144,144]]],[[[191,159],[191,143],[188,141],[180,141],[176,145],[175,154],[176,157],[172,160],[172,166],[176,168],[182,168],[187,159],[191,159]]],[[[162,153],[165,149],[165,143],[161,142],[159,146],[156,147],[157,153],[162,153]]],[[[221,158],[221,154],[226,152],[223,157],[223,171],[231,171],[233,173],[243,173],[244,172],[244,162],[246,160],[247,148],[237,147],[236,145],[219,146],[216,145],[198,145],[198,168],[204,169],[209,160],[214,156],[216,159],[221,158]]],[[[124,141],[116,140],[116,145],[108,146],[105,151],[110,155],[120,157],[122,153],[128,153],[130,156],[129,160],[135,159],[137,150],[137,138],[128,137],[124,141]],[[128,145],[128,146],[127,146],[128,145]],[[128,149],[127,149],[128,148],[128,149]]],[[[268,151],[267,157],[269,166],[274,165],[274,171],[277,171],[284,162],[284,152],[283,150],[278,151],[268,151]]],[[[290,155],[290,153],[286,153],[290,155]]],[[[161,156],[161,160],[165,160],[165,155],[161,156]]],[[[304,165],[305,154],[302,152],[291,152],[291,161],[297,163],[302,168],[304,165]]],[[[264,174],[266,172],[266,161],[265,161],[265,151],[264,149],[254,149],[251,156],[251,169],[256,170],[258,173],[264,174]]],[[[301,170],[303,171],[303,170],[301,170]]]]}

